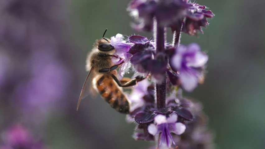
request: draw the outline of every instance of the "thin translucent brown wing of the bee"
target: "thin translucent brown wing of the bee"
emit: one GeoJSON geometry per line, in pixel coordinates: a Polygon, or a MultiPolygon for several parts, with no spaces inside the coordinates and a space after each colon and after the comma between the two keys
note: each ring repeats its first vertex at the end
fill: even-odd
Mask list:
{"type": "Polygon", "coordinates": [[[89,73],[88,73],[88,75],[86,77],[86,81],[85,81],[85,83],[83,85],[83,88],[82,88],[82,91],[81,91],[81,94],[79,96],[78,103],[77,103],[77,111],[78,111],[78,108],[79,108],[79,105],[80,105],[80,101],[82,99],[84,99],[90,92],[89,88],[90,88],[91,85],[89,85],[89,84],[91,84],[91,81],[88,81],[88,80],[90,80],[89,78],[91,78],[89,76],[93,75],[93,73],[92,73],[93,72],[93,68],[94,68],[94,65],[91,67],[91,69],[90,69],[90,71],[89,71],[89,73]]]}

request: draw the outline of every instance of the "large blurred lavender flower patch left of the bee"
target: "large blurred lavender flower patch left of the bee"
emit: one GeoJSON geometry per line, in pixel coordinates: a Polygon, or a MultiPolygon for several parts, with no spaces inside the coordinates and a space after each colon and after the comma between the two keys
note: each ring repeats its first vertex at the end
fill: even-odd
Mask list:
{"type": "Polygon", "coordinates": [[[15,99],[19,100],[19,107],[25,114],[36,109],[39,114],[47,113],[65,97],[71,81],[69,71],[47,51],[34,51],[28,63],[30,78],[17,85],[15,99]]]}

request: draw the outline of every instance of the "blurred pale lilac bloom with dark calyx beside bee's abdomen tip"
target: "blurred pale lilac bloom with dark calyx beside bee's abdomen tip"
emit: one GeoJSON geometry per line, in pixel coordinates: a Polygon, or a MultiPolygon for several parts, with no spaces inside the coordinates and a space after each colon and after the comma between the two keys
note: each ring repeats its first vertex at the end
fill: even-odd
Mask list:
{"type": "Polygon", "coordinates": [[[147,80],[138,82],[138,86],[128,96],[132,104],[130,106],[130,114],[127,115],[127,121],[137,122],[136,132],[133,135],[135,140],[154,140],[154,136],[147,131],[148,125],[154,121],[156,115],[154,111],[157,110],[154,98],[154,86],[149,84],[147,80]],[[149,86],[147,87],[147,85],[149,86]]]}

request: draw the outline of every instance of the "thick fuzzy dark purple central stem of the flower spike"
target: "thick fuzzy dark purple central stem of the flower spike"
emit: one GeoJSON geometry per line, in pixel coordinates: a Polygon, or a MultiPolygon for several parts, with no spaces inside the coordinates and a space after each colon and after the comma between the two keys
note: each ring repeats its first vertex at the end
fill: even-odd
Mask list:
{"type": "MultiPolygon", "coordinates": [[[[158,25],[159,20],[154,21],[154,35],[156,39],[156,53],[165,50],[165,29],[158,25]]],[[[164,81],[161,84],[156,83],[156,102],[158,109],[165,109],[166,98],[166,73],[164,81]]]]}

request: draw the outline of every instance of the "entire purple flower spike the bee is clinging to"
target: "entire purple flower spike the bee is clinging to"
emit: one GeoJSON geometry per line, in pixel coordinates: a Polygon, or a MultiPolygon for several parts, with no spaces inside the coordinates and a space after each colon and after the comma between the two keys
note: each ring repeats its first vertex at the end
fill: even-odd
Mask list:
{"type": "Polygon", "coordinates": [[[132,65],[136,74],[150,76],[152,80],[152,83],[137,82],[129,95],[131,105],[127,119],[137,123],[136,140],[156,141],[158,149],[177,146],[197,149],[211,143],[204,142],[203,137],[207,138],[210,133],[207,127],[198,124],[199,110],[194,110],[193,102],[182,97],[182,90],[191,92],[202,83],[208,56],[196,43],[179,44],[181,32],[197,35],[198,31],[202,32],[201,27],[208,25],[207,18],[214,14],[206,8],[187,0],[130,2],[128,11],[139,23],[133,27],[154,33],[154,41],[140,35],[125,39],[121,34],[110,40],[118,55],[112,62],[124,61],[119,79],[132,65]],[[166,27],[174,32],[172,44],[165,44],[166,27]],[[201,140],[198,137],[202,137],[201,140]]]}

